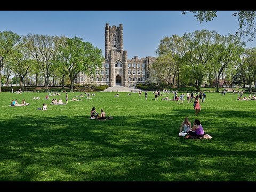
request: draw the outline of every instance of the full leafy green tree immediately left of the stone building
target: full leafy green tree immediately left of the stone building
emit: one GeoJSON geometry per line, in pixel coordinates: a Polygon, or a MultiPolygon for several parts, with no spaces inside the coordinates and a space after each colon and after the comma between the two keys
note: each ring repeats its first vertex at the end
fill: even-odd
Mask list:
{"type": "Polygon", "coordinates": [[[101,49],[94,47],[90,42],[83,42],[82,38],[67,38],[65,45],[59,47],[57,62],[62,66],[64,74],[70,79],[70,91],[73,91],[74,81],[79,72],[95,74],[104,58],[101,49]]]}

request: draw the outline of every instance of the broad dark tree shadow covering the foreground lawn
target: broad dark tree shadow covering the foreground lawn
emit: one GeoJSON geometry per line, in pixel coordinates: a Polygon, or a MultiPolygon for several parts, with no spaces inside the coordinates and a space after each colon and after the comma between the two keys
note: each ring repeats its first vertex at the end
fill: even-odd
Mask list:
{"type": "MultiPolygon", "coordinates": [[[[218,116],[228,118],[229,113],[218,116]]],[[[233,130],[230,138],[225,135],[230,130],[224,127],[221,132],[209,129],[211,140],[186,140],[178,137],[181,122],[172,117],[175,115],[170,119],[160,115],[115,116],[98,121],[84,116],[14,116],[11,121],[0,120],[0,180],[255,180],[248,174],[255,165],[249,168],[246,163],[246,159],[255,159],[255,151],[236,149],[237,142],[245,138],[247,145],[254,143],[246,137],[250,127],[244,126],[242,133],[233,130]]],[[[214,124],[207,121],[207,127],[214,124]]]]}

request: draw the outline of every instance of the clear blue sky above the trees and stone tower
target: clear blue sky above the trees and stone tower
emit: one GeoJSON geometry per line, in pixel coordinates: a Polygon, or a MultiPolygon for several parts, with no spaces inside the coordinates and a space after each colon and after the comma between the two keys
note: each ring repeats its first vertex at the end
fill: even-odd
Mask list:
{"type": "MultiPolygon", "coordinates": [[[[83,38],[105,54],[105,24],[123,24],[124,50],[128,59],[155,56],[160,40],[174,34],[182,36],[195,30],[216,30],[221,35],[238,29],[235,11],[218,11],[218,17],[200,24],[193,14],[182,11],[0,11],[0,31],[19,35],[44,34],[83,38]]],[[[247,42],[247,47],[255,47],[247,42]]]]}

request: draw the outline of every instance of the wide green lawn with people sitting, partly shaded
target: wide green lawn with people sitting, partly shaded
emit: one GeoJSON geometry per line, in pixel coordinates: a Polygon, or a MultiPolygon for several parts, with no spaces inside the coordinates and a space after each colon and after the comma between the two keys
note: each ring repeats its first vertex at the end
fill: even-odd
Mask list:
{"type": "Polygon", "coordinates": [[[193,103],[114,94],[56,106],[51,99],[65,101],[65,93],[44,100],[45,93],[1,92],[0,180],[256,181],[256,101],[206,93],[198,119],[213,138],[186,140],[179,127],[186,116],[194,121],[193,103]],[[30,105],[10,107],[12,99],[30,105]],[[44,102],[48,110],[37,110],[44,102]],[[114,119],[89,119],[93,106],[114,119]]]}

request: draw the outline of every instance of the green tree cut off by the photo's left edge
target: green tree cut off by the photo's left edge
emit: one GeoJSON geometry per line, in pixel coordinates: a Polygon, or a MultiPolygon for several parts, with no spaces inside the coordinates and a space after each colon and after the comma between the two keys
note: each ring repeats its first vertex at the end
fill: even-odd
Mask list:
{"type": "MultiPolygon", "coordinates": [[[[0,79],[1,71],[5,65],[5,59],[12,54],[12,51],[15,49],[15,46],[19,43],[20,36],[17,33],[12,31],[0,31],[0,79]]],[[[0,92],[2,83],[0,81],[0,92]]]]}

